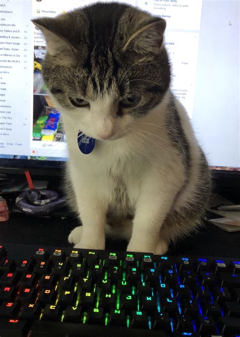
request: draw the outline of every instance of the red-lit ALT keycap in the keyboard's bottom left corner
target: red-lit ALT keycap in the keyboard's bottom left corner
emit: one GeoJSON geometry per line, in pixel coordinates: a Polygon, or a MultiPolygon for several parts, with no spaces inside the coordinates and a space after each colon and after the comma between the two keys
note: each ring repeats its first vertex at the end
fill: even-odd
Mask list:
{"type": "Polygon", "coordinates": [[[25,319],[0,319],[0,336],[1,337],[23,337],[27,329],[27,321],[25,319]]]}

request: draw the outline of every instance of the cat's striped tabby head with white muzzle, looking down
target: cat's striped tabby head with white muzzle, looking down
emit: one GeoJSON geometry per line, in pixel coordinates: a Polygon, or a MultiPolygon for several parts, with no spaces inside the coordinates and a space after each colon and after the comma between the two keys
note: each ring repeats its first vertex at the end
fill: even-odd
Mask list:
{"type": "Polygon", "coordinates": [[[124,137],[169,89],[162,18],[98,3],[33,23],[47,41],[44,80],[72,132],[124,137]]]}

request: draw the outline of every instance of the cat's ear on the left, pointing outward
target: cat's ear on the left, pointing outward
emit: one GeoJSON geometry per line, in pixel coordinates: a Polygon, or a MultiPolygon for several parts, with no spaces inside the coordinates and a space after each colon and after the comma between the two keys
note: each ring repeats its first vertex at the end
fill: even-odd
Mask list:
{"type": "Polygon", "coordinates": [[[68,52],[73,52],[71,44],[58,32],[59,22],[53,18],[41,18],[32,20],[34,25],[39,28],[47,43],[47,51],[52,56],[59,56],[68,52]]]}

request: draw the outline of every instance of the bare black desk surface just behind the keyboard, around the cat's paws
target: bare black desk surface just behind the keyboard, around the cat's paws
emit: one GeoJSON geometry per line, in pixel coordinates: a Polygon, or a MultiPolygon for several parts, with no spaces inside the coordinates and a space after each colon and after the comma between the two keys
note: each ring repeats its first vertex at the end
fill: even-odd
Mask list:
{"type": "MultiPolygon", "coordinates": [[[[37,218],[24,214],[11,214],[8,222],[0,222],[1,243],[36,244],[69,247],[69,232],[77,226],[77,219],[37,218]]],[[[125,250],[126,241],[107,240],[106,249],[125,250]]],[[[169,255],[212,256],[240,258],[240,231],[228,233],[206,223],[175,246],[169,255]]]]}

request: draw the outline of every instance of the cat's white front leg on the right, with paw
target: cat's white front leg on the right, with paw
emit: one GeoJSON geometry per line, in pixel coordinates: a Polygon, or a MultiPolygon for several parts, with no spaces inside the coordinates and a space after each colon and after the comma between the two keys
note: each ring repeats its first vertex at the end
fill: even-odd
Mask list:
{"type": "Polygon", "coordinates": [[[168,240],[161,240],[161,228],[182,184],[180,176],[171,184],[167,177],[151,173],[142,184],[136,203],[133,233],[128,251],[165,254],[168,240]]]}

